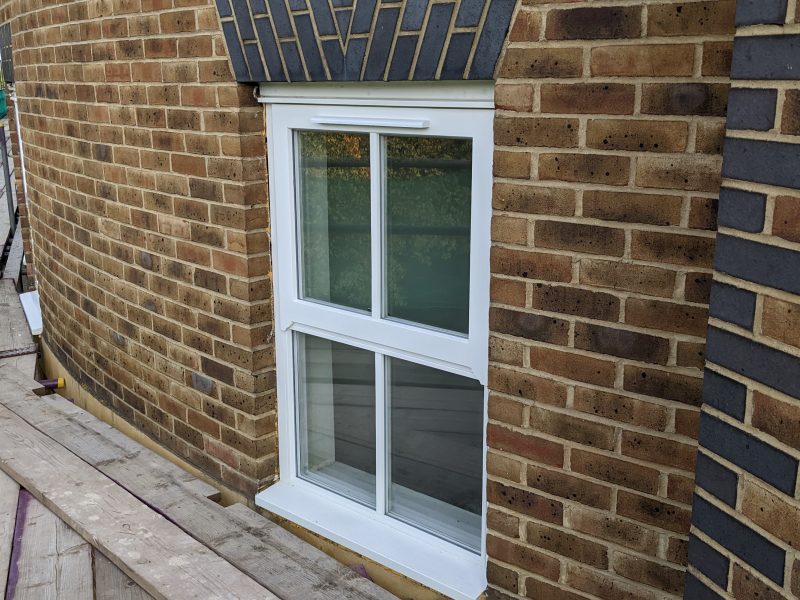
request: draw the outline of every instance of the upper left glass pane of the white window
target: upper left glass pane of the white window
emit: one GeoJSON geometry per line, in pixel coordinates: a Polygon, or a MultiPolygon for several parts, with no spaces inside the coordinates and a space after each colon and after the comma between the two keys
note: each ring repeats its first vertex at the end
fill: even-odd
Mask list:
{"type": "Polygon", "coordinates": [[[369,310],[369,135],[301,131],[304,298],[369,310]]]}

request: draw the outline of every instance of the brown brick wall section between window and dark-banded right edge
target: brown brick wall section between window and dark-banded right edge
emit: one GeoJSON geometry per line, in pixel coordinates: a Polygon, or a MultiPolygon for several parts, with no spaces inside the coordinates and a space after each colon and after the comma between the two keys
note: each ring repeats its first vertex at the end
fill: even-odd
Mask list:
{"type": "Polygon", "coordinates": [[[518,9],[496,90],[493,598],[683,593],[734,9],[518,9]]]}

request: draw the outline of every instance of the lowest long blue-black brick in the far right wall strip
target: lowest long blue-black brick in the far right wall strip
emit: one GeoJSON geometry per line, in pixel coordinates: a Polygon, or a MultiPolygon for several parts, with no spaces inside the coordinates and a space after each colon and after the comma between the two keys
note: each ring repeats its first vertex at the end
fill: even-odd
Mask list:
{"type": "Polygon", "coordinates": [[[692,523],[769,579],[783,585],[786,553],[700,496],[694,497],[692,523]]]}

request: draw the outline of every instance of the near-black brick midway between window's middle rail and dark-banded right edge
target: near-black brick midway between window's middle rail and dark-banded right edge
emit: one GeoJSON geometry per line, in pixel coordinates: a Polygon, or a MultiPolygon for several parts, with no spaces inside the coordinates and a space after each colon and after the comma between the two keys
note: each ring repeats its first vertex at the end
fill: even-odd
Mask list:
{"type": "Polygon", "coordinates": [[[594,323],[575,324],[575,347],[662,365],[669,358],[669,341],[664,338],[594,323]]]}

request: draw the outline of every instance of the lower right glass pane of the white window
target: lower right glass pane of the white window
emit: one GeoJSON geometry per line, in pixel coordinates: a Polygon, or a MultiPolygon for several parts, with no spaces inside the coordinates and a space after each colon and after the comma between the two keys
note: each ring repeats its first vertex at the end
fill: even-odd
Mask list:
{"type": "Polygon", "coordinates": [[[388,359],[389,514],[481,547],[483,387],[472,379],[388,359]]]}

